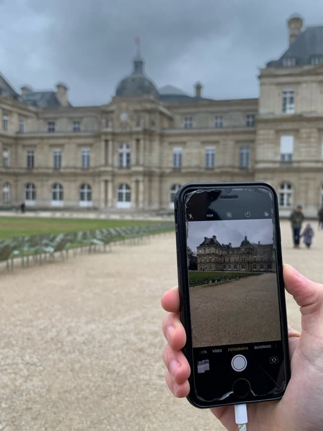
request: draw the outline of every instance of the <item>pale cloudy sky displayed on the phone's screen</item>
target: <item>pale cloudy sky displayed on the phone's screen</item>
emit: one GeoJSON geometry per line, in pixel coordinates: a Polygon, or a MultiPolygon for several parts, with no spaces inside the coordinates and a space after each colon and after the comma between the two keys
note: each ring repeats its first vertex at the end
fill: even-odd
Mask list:
{"type": "Polygon", "coordinates": [[[272,244],[272,221],[259,220],[213,220],[190,221],[188,223],[187,245],[196,253],[196,247],[204,241],[204,237],[216,236],[220,244],[231,242],[232,247],[239,247],[245,235],[252,243],[272,244]]]}

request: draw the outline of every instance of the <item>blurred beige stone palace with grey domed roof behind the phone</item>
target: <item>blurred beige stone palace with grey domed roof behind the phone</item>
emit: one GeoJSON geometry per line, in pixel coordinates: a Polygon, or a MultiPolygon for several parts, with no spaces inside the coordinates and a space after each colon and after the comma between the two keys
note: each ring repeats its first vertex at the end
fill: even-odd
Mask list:
{"type": "Polygon", "coordinates": [[[259,99],[158,89],[139,54],[102,106],[68,88],[18,93],[0,75],[0,208],[159,211],[190,181],[265,180],[282,216],[323,202],[323,26],[288,20],[289,46],[259,73],[259,99]]]}

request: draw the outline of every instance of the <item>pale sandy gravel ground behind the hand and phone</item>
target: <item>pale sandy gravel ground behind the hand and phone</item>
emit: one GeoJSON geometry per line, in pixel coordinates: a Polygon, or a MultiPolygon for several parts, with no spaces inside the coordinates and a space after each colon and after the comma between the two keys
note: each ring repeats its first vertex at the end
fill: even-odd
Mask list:
{"type": "MultiPolygon", "coordinates": [[[[284,261],[319,281],[323,232],[284,261]]],[[[223,430],[164,383],[162,293],[177,282],[173,234],[67,262],[0,268],[0,430],[223,430]]],[[[300,328],[287,295],[289,323],[300,328]]]]}

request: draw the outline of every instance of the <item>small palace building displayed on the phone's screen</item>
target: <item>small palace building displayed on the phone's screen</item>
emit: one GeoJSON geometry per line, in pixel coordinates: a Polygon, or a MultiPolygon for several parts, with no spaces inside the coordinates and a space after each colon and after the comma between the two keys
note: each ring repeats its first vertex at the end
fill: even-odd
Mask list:
{"type": "Polygon", "coordinates": [[[216,236],[204,238],[197,247],[199,271],[272,272],[276,270],[273,244],[251,243],[247,235],[238,247],[220,244],[216,236]]]}

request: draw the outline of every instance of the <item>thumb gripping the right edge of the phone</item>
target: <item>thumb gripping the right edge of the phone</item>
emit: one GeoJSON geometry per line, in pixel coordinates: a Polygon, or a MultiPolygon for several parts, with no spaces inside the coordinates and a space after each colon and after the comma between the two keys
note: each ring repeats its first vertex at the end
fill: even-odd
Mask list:
{"type": "Polygon", "coordinates": [[[287,292],[300,306],[302,329],[313,328],[312,323],[318,327],[323,321],[323,285],[304,277],[290,265],[284,265],[283,275],[287,292]]]}

